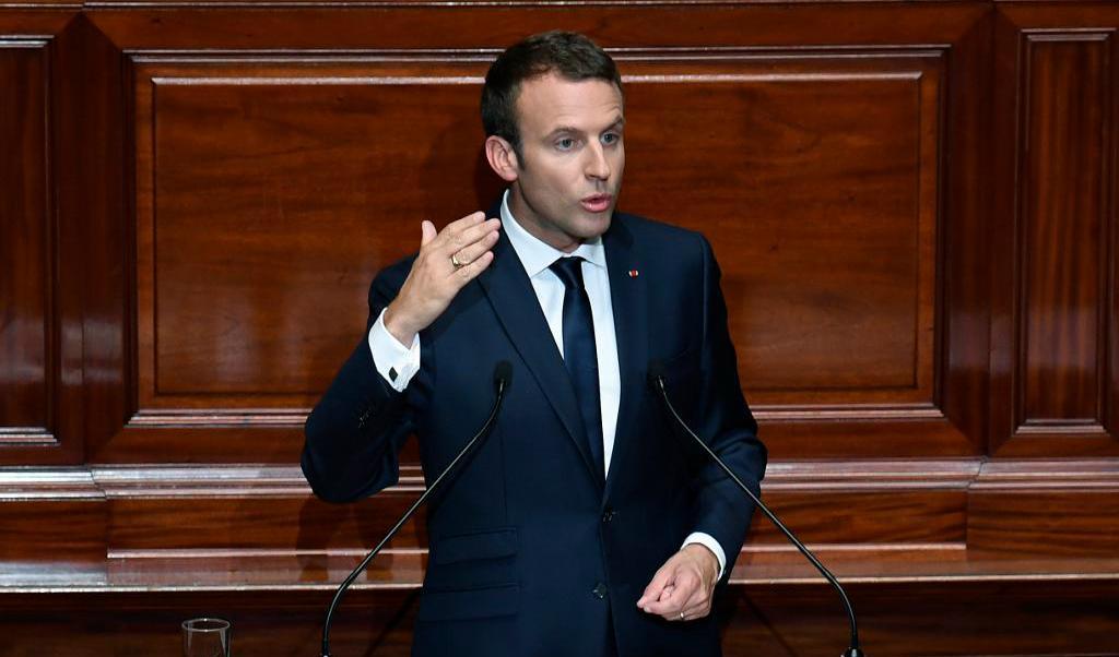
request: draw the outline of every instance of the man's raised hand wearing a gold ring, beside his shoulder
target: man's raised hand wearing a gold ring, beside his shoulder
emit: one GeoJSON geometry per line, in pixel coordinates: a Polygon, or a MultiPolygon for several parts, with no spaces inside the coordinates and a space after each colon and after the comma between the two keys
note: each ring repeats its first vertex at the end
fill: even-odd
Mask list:
{"type": "Polygon", "coordinates": [[[452,221],[439,232],[434,223],[423,221],[420,255],[401,292],[385,308],[385,328],[393,337],[412,344],[416,333],[430,326],[454,295],[486,270],[493,261],[490,249],[497,244],[500,227],[500,220],[487,220],[485,212],[452,221]]]}

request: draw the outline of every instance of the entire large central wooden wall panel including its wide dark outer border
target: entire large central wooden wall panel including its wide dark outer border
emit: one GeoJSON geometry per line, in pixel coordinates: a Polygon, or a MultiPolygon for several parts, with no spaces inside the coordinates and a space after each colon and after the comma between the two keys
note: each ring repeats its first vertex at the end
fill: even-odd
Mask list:
{"type": "MultiPolygon", "coordinates": [[[[747,392],[779,458],[972,456],[984,442],[974,402],[984,379],[972,361],[986,326],[971,292],[981,286],[946,283],[966,279],[981,258],[981,246],[971,245],[982,225],[978,196],[944,180],[966,177],[980,158],[961,147],[970,137],[943,125],[946,117],[977,122],[981,96],[947,89],[974,75],[986,12],[969,3],[883,9],[697,6],[674,13],[678,29],[666,32],[614,27],[661,25],[664,8],[596,7],[563,26],[615,48],[633,93],[645,95],[631,104],[636,117],[650,127],[671,124],[696,139],[705,133],[695,126],[713,124],[703,113],[718,103],[741,116],[727,124],[740,126],[728,139],[707,133],[703,142],[717,146],[724,170],[741,170],[740,182],[753,179],[724,188],[722,198],[693,193],[713,184],[711,169],[671,168],[656,128],[646,130],[642,150],[641,126],[631,122],[633,156],[653,173],[642,179],[630,168],[623,206],[695,225],[721,254],[742,251],[723,256],[734,330],[747,392]],[[822,29],[837,20],[844,30],[822,29]],[[734,30],[712,32],[730,23],[734,30]],[[694,106],[690,117],[674,111],[681,105],[694,106]],[[760,165],[761,144],[786,153],[783,169],[760,165]],[[953,153],[957,168],[944,178],[953,153]],[[658,168],[684,174],[667,206],[658,168]],[[762,184],[773,193],[762,194],[762,184]],[[754,203],[758,216],[736,228],[721,219],[741,218],[739,206],[754,203]],[[778,242],[777,251],[767,246],[778,242]],[[829,250],[814,251],[825,242],[829,250]],[[829,276],[837,258],[852,278],[829,276]],[[852,294],[856,287],[862,295],[852,294]]],[[[135,212],[123,241],[102,234],[124,248],[123,283],[134,292],[116,302],[122,321],[104,326],[119,330],[122,352],[110,370],[121,380],[106,390],[113,403],[95,407],[111,413],[91,409],[96,460],[295,458],[307,408],[358,337],[368,278],[415,248],[411,223],[420,217],[412,215],[457,218],[497,188],[474,141],[477,91],[468,91],[515,38],[492,29],[493,11],[262,16],[110,3],[87,12],[131,63],[122,93],[132,107],[122,118],[133,137],[126,189],[135,212]],[[402,46],[404,32],[413,40],[402,46]],[[414,87],[395,79],[408,76],[423,79],[414,87]],[[423,112],[402,121],[407,102],[396,101],[396,113],[377,108],[377,98],[410,88],[430,95],[423,112]],[[350,139],[375,136],[376,149],[396,152],[397,133],[408,135],[408,149],[395,170],[379,169],[350,139]],[[323,162],[356,164],[328,174],[323,162]],[[414,194],[416,175],[449,184],[414,194]],[[196,193],[199,187],[210,193],[196,193]],[[366,210],[380,189],[394,193],[366,210]],[[329,263],[325,254],[338,245],[325,226],[357,236],[329,263]]],[[[540,7],[504,8],[500,18],[518,34],[556,27],[540,7]]],[[[687,150],[683,140],[671,143],[687,150]]],[[[110,345],[101,346],[98,354],[110,345]]]]}

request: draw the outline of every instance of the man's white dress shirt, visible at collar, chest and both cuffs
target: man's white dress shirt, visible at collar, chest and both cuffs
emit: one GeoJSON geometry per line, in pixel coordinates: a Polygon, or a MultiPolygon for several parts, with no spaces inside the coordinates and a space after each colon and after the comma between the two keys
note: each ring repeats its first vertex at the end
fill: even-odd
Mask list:
{"type": "MultiPolygon", "coordinates": [[[[544,316],[552,331],[560,354],[563,355],[563,297],[564,285],[548,266],[562,257],[583,258],[583,284],[591,301],[591,316],[594,320],[594,347],[599,359],[599,399],[602,404],[602,455],[606,473],[614,450],[614,434],[618,428],[618,409],[621,404],[621,368],[618,364],[618,340],[614,336],[613,306],[610,302],[610,278],[606,272],[606,250],[602,238],[584,242],[573,253],[565,254],[545,244],[525,230],[509,210],[509,192],[501,199],[501,227],[520,258],[528,274],[533,291],[540,303],[544,316]]],[[[411,347],[401,344],[385,328],[385,312],[382,311],[369,330],[369,349],[377,372],[396,391],[403,391],[412,377],[420,370],[420,336],[412,339],[411,347]]],[[[726,554],[714,536],[694,532],[684,544],[699,543],[718,559],[718,577],[726,566],[726,554]]]]}

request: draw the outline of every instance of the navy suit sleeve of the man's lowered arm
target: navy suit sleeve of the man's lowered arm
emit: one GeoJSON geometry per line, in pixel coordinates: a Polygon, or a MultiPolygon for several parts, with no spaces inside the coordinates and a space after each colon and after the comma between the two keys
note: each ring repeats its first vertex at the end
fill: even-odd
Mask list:
{"type": "MultiPolygon", "coordinates": [[[[761,494],[767,450],[758,439],[758,422],[742,397],[737,358],[727,327],[726,303],[720,287],[720,269],[711,244],[700,238],[703,257],[704,326],[700,351],[699,418],[696,432],[711,437],[709,446],[740,479],[761,494]]],[[[698,474],[695,531],[711,534],[726,553],[723,581],[739,556],[754,503],[709,459],[698,474]]]]}

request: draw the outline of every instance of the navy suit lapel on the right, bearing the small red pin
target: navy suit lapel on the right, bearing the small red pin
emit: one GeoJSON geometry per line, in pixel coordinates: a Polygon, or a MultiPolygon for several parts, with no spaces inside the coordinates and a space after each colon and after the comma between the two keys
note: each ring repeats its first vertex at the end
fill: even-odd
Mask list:
{"type": "Polygon", "coordinates": [[[627,454],[633,448],[638,426],[637,413],[645,391],[645,371],[648,358],[648,305],[646,304],[647,277],[641,276],[641,263],[633,248],[633,236],[614,217],[610,230],[603,235],[606,249],[606,272],[610,276],[610,303],[614,313],[614,336],[618,342],[618,368],[621,374],[621,403],[614,430],[614,450],[606,475],[606,494],[624,467],[627,454]]]}

